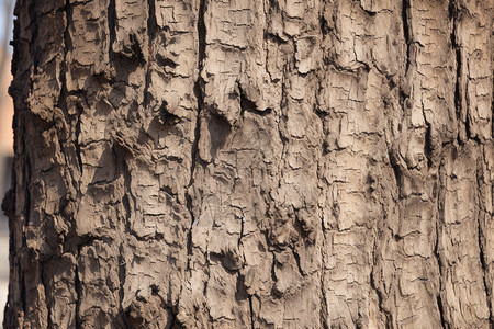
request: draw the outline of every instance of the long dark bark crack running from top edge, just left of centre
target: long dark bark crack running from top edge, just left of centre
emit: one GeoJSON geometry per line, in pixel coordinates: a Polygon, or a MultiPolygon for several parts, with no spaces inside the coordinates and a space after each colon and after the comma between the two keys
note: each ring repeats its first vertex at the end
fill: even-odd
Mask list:
{"type": "Polygon", "coordinates": [[[194,183],[194,172],[195,166],[199,157],[199,138],[201,134],[201,111],[204,106],[204,95],[203,95],[203,87],[204,81],[201,78],[201,72],[203,68],[203,61],[205,59],[205,47],[206,47],[206,29],[204,23],[204,13],[206,10],[206,0],[201,0],[199,3],[199,12],[198,12],[198,80],[194,84],[194,93],[198,99],[198,114],[195,117],[195,131],[194,131],[194,140],[192,143],[191,149],[191,166],[190,166],[190,181],[189,185],[186,190],[186,198],[187,198],[187,208],[189,211],[191,223],[187,239],[187,252],[188,254],[192,254],[192,226],[195,223],[195,216],[193,212],[192,197],[190,195],[189,190],[192,188],[194,183]]]}

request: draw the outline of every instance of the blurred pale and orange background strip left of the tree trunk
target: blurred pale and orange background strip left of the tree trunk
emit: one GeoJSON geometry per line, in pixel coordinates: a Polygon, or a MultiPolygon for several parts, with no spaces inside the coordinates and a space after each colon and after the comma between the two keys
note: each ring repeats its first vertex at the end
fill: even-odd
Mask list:
{"type": "MultiPolygon", "coordinates": [[[[0,202],[10,186],[13,157],[12,117],[13,104],[8,94],[12,76],[10,61],[12,47],[14,0],[0,0],[0,202]]],[[[9,284],[9,227],[7,217],[0,211],[0,328],[3,322],[3,308],[9,284]]]]}

